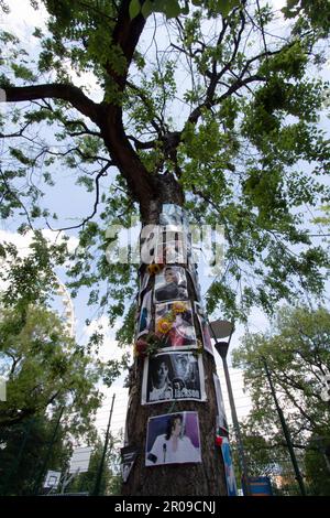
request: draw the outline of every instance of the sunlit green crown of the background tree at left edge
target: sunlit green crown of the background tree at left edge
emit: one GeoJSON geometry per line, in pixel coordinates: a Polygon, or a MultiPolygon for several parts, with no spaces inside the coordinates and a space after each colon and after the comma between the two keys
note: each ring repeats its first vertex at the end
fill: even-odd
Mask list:
{"type": "MultiPolygon", "coordinates": [[[[1,370],[7,379],[0,425],[24,421],[45,409],[67,404],[79,425],[90,424],[100,404],[97,389],[101,368],[68,337],[59,319],[43,307],[31,307],[21,322],[14,309],[0,317],[1,370]]],[[[81,430],[80,430],[81,431],[81,430]]]]}

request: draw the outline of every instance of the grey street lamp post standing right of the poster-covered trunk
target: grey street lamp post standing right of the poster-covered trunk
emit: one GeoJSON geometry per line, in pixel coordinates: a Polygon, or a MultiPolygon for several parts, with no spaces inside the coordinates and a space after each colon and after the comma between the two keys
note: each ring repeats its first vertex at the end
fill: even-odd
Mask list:
{"type": "Polygon", "coordinates": [[[232,417],[232,422],[233,422],[237,442],[238,442],[239,462],[240,462],[240,467],[241,467],[241,472],[243,475],[242,476],[243,493],[244,495],[251,496],[248,463],[246,463],[246,458],[244,454],[242,434],[241,434],[241,429],[240,429],[239,419],[237,414],[237,409],[235,409],[235,403],[234,403],[234,398],[233,398],[233,392],[232,392],[232,387],[231,387],[231,380],[229,376],[229,368],[227,364],[227,353],[230,346],[232,334],[234,332],[234,326],[231,322],[218,320],[218,321],[211,322],[209,327],[216,341],[215,347],[222,359],[231,417],[232,417]],[[222,342],[222,341],[219,342],[219,338],[223,338],[226,336],[229,336],[228,342],[222,342]]]}

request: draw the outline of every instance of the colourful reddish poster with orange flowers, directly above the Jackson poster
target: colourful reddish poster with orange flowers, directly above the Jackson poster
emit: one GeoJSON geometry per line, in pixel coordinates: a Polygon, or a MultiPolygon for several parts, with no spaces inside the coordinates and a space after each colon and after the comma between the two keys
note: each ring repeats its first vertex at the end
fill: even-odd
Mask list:
{"type": "Polygon", "coordinates": [[[189,301],[156,304],[155,327],[157,332],[162,330],[164,323],[168,328],[163,333],[163,349],[197,347],[191,303],[189,301]],[[174,313],[174,307],[180,307],[180,311],[174,313]],[[170,319],[168,319],[168,315],[170,315],[170,319]]]}

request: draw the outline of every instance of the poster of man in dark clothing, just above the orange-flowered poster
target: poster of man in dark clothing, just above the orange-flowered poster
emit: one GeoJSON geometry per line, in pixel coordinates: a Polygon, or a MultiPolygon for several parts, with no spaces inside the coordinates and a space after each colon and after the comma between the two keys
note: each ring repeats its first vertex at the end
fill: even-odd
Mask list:
{"type": "Polygon", "coordinates": [[[183,267],[168,266],[155,278],[155,302],[188,299],[186,272],[183,267]]]}

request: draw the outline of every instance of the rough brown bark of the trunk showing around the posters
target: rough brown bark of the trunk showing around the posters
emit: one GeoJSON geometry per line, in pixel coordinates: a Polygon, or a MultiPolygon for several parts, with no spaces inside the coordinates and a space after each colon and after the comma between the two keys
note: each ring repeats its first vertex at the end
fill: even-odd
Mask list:
{"type": "MultiPolygon", "coordinates": [[[[144,224],[158,224],[163,203],[180,205],[183,196],[178,184],[169,175],[158,180],[160,198],[151,201],[150,214],[144,224]],[[174,183],[175,182],[175,183],[174,183]]],[[[140,274],[143,276],[147,266],[143,265],[140,274]]],[[[187,274],[188,298],[194,301],[196,293],[190,277],[187,274]]],[[[147,290],[154,290],[155,277],[151,276],[147,290]]],[[[140,301],[141,304],[141,301],[140,301]]],[[[155,326],[155,305],[153,302],[153,331],[155,326]]],[[[201,332],[197,315],[194,314],[196,336],[201,339],[201,332]]],[[[193,495],[227,495],[226,477],[221,449],[216,445],[217,431],[217,399],[213,385],[216,364],[211,354],[201,353],[206,401],[164,401],[154,404],[141,404],[144,358],[138,356],[131,373],[130,401],[127,414],[125,445],[134,446],[138,451],[136,460],[131,468],[128,481],[122,486],[122,495],[143,496],[193,496],[193,495]],[[201,463],[163,464],[145,466],[145,446],[148,418],[166,413],[183,411],[198,412],[201,463]]]]}

